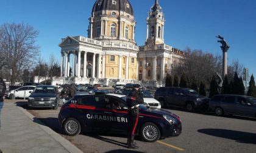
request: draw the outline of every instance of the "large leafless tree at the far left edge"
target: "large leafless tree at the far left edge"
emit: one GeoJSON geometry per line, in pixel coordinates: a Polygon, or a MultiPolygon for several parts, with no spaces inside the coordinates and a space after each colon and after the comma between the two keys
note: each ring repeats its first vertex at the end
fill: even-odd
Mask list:
{"type": "Polygon", "coordinates": [[[37,36],[38,32],[30,25],[5,23],[0,26],[0,50],[8,60],[4,64],[12,69],[12,84],[18,74],[35,63],[39,53],[39,47],[35,45],[37,36]]]}

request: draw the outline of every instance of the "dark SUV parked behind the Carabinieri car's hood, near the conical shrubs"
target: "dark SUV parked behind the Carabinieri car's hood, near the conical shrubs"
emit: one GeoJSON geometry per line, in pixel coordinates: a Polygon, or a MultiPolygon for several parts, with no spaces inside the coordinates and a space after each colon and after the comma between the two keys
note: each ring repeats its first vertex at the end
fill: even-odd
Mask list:
{"type": "Polygon", "coordinates": [[[162,107],[167,105],[184,107],[188,111],[207,109],[208,97],[199,95],[195,90],[180,87],[160,87],[155,91],[155,99],[162,107]]]}

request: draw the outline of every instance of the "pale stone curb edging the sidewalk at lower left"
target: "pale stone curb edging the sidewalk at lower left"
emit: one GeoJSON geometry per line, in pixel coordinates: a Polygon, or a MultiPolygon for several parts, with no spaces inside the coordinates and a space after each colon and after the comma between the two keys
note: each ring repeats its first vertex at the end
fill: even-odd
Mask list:
{"type": "Polygon", "coordinates": [[[19,107],[19,106],[16,106],[16,107],[18,107],[18,109],[20,109],[21,112],[23,112],[25,115],[27,115],[27,117],[29,117],[30,120],[37,123],[37,125],[41,129],[43,129],[43,131],[48,133],[52,138],[54,138],[54,140],[59,142],[63,146],[63,148],[65,148],[68,152],[81,152],[82,153],[82,151],[80,149],[78,149],[76,146],[74,146],[74,144],[72,144],[71,142],[69,142],[68,140],[66,140],[65,138],[63,138],[62,136],[57,134],[56,132],[54,132],[51,128],[49,128],[43,122],[38,120],[38,118],[34,117],[32,114],[27,112],[27,110],[23,109],[23,107],[19,107]]]}

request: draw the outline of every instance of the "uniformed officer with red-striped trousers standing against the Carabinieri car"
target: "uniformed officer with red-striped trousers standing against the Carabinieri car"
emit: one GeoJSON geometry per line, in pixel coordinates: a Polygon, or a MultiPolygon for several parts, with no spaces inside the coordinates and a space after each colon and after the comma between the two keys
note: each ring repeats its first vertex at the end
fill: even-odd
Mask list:
{"type": "Polygon", "coordinates": [[[127,96],[127,105],[129,109],[129,130],[127,137],[128,148],[137,149],[138,147],[133,143],[136,126],[138,123],[138,106],[144,103],[143,97],[140,95],[140,84],[134,84],[132,91],[127,96]]]}

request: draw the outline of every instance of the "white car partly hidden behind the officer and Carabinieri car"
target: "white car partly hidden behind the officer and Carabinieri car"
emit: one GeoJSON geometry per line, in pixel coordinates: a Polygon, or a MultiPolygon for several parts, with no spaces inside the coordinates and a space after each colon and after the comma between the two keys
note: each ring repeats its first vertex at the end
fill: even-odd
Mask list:
{"type": "MultiPolygon", "coordinates": [[[[125,88],[122,91],[123,95],[128,95],[130,93],[130,91],[132,90],[132,88],[125,88]]],[[[155,107],[160,109],[161,108],[161,103],[157,100],[155,100],[155,98],[153,97],[153,95],[148,92],[147,90],[141,90],[141,95],[143,95],[143,100],[144,100],[144,106],[149,106],[149,107],[155,107]]]]}

